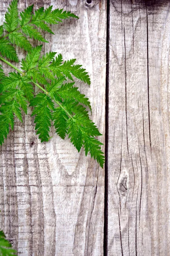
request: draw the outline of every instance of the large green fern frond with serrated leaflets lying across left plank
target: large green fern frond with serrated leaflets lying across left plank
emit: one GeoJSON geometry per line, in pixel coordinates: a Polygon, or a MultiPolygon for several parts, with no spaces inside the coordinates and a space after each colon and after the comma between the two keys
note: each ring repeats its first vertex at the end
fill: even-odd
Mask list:
{"type": "Polygon", "coordinates": [[[61,54],[55,57],[56,52],[40,56],[42,45],[32,47],[26,37],[47,42],[37,27],[54,34],[49,25],[69,17],[78,18],[62,9],[52,10],[52,6],[46,10],[41,7],[34,14],[33,6],[29,6],[18,17],[17,0],[13,0],[8,7],[5,22],[0,26],[0,60],[16,72],[5,76],[0,67],[0,144],[10,128],[14,128],[14,116],[22,122],[21,110],[27,113],[29,102],[29,106],[33,107],[32,116],[35,116],[35,129],[41,142],[50,139],[51,122],[54,122],[56,132],[62,139],[68,134],[78,151],[83,146],[85,154],[90,152],[91,157],[103,167],[102,143],[95,139],[102,134],[89,118],[91,105],[88,98],[74,87],[74,77],[90,84],[88,73],[82,65],[75,64],[76,59],[63,62],[61,54]],[[14,45],[28,52],[21,61],[21,69],[3,58],[19,61],[14,45]],[[35,95],[33,85],[42,92],[35,95]]]}

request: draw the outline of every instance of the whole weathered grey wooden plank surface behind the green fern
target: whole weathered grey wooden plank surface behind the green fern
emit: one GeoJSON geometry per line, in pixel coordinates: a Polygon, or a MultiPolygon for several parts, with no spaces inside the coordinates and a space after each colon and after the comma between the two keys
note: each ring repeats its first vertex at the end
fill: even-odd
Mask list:
{"type": "Polygon", "coordinates": [[[20,256],[169,256],[170,1],[34,8],[51,4],[79,16],[53,26],[43,50],[88,70],[91,87],[77,84],[105,134],[105,171],[54,131],[40,143],[28,113],[0,148],[0,228],[20,256]]]}

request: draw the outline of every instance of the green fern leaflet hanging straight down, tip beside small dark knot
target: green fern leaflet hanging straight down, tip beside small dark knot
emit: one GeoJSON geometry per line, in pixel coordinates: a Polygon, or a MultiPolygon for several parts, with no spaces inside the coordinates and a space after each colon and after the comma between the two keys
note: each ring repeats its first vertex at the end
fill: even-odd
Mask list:
{"type": "Polygon", "coordinates": [[[31,100],[30,106],[34,106],[31,116],[35,115],[34,123],[36,123],[37,134],[40,134],[39,139],[41,142],[48,141],[52,119],[51,109],[54,109],[54,103],[49,96],[39,93],[31,100]]]}

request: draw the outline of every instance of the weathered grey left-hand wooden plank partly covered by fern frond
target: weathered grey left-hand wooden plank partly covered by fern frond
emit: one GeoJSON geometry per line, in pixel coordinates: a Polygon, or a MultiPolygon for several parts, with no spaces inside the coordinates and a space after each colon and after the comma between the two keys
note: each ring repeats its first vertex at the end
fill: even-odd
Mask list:
{"type": "MultiPolygon", "coordinates": [[[[11,2],[11,1],[9,1],[11,2]]],[[[1,21],[8,1],[0,3],[1,21]]],[[[91,76],[91,87],[77,82],[91,101],[93,115],[105,132],[106,1],[40,1],[35,8],[64,8],[79,16],[54,26],[45,52],[77,58],[91,76]]],[[[20,0],[19,9],[31,5],[20,0]]],[[[20,54],[20,56],[22,53],[20,54]]],[[[6,69],[6,71],[8,71],[6,69]]],[[[40,143],[30,112],[0,148],[0,228],[12,239],[18,255],[72,256],[103,254],[104,171],[91,157],[78,153],[69,140],[52,130],[40,143]]],[[[102,137],[104,142],[104,136],[102,137]]]]}

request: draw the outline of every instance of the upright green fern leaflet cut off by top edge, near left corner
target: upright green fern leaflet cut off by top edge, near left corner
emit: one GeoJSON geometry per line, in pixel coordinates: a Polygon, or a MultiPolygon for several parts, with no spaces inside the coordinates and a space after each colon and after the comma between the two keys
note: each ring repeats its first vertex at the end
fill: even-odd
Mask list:
{"type": "Polygon", "coordinates": [[[13,0],[8,7],[8,12],[5,14],[5,22],[3,23],[3,26],[8,32],[14,31],[18,25],[17,2],[17,0],[13,0]]]}

